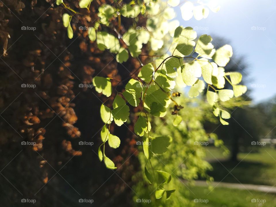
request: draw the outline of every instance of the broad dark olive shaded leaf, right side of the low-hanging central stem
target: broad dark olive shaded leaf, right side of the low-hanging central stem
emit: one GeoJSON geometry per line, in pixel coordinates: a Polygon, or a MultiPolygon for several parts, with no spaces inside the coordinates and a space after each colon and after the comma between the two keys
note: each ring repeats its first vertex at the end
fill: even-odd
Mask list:
{"type": "Polygon", "coordinates": [[[152,152],[154,154],[162,154],[167,151],[167,147],[172,142],[170,136],[154,137],[151,139],[152,152]]]}

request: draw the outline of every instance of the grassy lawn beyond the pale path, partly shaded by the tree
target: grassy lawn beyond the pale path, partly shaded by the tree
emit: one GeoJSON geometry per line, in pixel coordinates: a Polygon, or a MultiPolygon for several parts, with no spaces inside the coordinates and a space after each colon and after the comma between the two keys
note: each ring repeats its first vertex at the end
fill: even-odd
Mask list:
{"type": "Polygon", "coordinates": [[[215,181],[272,186],[276,184],[275,149],[262,147],[258,153],[240,153],[238,158],[238,162],[229,161],[222,155],[221,149],[206,147],[206,160],[214,168],[208,174],[214,177],[215,181]],[[228,170],[232,170],[231,174],[233,175],[228,170]]]}

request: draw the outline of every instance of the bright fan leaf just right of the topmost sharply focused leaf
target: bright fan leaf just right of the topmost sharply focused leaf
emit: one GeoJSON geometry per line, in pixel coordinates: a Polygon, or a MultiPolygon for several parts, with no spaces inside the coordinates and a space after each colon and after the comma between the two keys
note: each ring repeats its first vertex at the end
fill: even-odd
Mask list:
{"type": "Polygon", "coordinates": [[[209,57],[212,56],[212,52],[214,52],[214,45],[212,45],[212,37],[207,34],[203,34],[199,37],[198,42],[196,44],[195,51],[201,57],[209,57]]]}

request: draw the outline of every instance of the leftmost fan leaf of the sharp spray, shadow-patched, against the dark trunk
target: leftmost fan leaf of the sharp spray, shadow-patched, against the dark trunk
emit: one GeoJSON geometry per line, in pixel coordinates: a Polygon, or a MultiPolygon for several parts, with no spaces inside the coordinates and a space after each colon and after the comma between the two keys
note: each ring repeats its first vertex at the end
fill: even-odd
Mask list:
{"type": "Polygon", "coordinates": [[[106,97],[110,97],[112,93],[110,78],[95,76],[93,78],[93,85],[98,93],[103,93],[106,97]]]}

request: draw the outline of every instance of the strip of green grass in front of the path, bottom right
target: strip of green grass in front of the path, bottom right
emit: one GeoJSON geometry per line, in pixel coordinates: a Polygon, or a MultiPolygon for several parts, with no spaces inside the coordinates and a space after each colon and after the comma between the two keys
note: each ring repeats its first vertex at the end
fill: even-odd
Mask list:
{"type": "Polygon", "coordinates": [[[196,207],[272,207],[276,205],[276,195],[246,190],[216,187],[211,192],[208,187],[189,187],[189,199],[208,200],[208,203],[195,203],[196,207]],[[210,193],[209,193],[210,192],[210,193]],[[209,194],[208,194],[209,193],[209,194]],[[252,199],[265,200],[264,203],[253,203],[252,199]]]}

